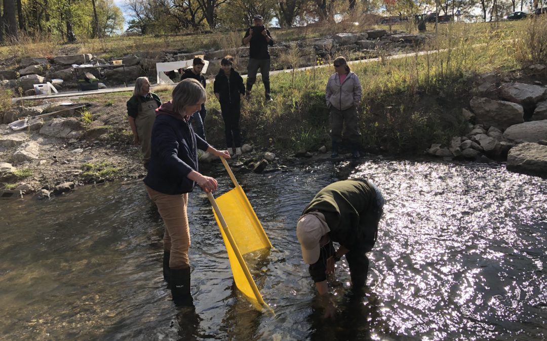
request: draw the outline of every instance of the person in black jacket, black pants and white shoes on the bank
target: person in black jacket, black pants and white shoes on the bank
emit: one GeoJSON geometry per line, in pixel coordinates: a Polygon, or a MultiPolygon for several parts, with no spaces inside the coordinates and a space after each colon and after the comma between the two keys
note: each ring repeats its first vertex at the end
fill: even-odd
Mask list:
{"type": "Polygon", "coordinates": [[[241,136],[239,119],[241,114],[241,99],[245,94],[243,78],[237,73],[232,64],[234,58],[226,56],[220,61],[221,69],[214,78],[214,95],[220,103],[222,118],[224,119],[224,132],[226,134],[226,145],[228,152],[241,155],[241,136]]]}

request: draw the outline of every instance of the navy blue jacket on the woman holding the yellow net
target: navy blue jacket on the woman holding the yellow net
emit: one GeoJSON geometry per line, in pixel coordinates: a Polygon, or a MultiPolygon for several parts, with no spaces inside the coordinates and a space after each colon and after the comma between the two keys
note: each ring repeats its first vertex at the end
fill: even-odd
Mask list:
{"type": "Polygon", "coordinates": [[[187,176],[197,168],[197,148],[209,144],[194,133],[190,122],[172,111],[168,101],[156,109],[152,128],[152,155],[144,183],[160,193],[192,192],[195,182],[187,176]]]}

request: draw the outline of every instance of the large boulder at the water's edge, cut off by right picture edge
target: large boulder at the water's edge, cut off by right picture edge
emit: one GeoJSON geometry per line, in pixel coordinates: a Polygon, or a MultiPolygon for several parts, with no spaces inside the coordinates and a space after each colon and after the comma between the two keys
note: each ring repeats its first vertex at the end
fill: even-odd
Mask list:
{"type": "Polygon", "coordinates": [[[515,172],[547,176],[547,146],[521,143],[510,149],[507,169],[515,172]]]}

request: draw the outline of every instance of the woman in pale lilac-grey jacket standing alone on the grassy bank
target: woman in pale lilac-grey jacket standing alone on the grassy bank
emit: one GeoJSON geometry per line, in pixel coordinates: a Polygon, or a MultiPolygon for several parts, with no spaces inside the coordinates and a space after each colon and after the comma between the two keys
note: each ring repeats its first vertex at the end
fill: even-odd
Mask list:
{"type": "Polygon", "coordinates": [[[338,146],[342,142],[342,128],[346,125],[345,136],[352,143],[354,158],[359,157],[359,117],[357,107],[363,91],[359,77],[352,73],[346,58],[334,59],[335,73],[329,77],[325,97],[330,111],[330,136],[333,140],[331,157],[338,156],[338,146]]]}

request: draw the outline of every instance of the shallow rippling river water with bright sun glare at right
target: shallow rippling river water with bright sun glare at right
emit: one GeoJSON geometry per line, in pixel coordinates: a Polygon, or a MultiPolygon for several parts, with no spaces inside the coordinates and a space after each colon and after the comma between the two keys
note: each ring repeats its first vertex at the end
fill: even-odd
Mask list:
{"type": "MultiPolygon", "coordinates": [[[[215,173],[216,196],[230,189],[215,173]]],[[[390,159],[236,174],[274,249],[253,271],[275,315],[235,288],[211,206],[190,194],[195,312],[161,276],[163,224],[141,181],[80,187],[49,201],[0,201],[0,339],[547,338],[547,180],[503,166],[390,159]],[[327,184],[358,175],[385,195],[366,296],[331,282],[323,320],[295,224],[327,184]]]]}

